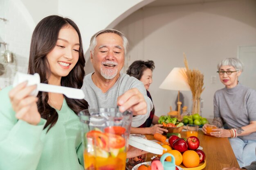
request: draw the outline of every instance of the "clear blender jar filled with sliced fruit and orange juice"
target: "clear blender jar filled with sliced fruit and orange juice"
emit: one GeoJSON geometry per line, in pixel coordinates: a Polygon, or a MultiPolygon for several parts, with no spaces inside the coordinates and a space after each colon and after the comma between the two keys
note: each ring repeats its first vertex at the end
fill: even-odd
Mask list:
{"type": "Polygon", "coordinates": [[[117,108],[80,111],[85,170],[125,170],[132,113],[117,108]]]}

